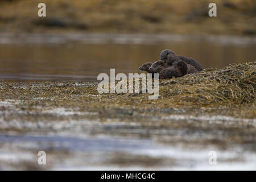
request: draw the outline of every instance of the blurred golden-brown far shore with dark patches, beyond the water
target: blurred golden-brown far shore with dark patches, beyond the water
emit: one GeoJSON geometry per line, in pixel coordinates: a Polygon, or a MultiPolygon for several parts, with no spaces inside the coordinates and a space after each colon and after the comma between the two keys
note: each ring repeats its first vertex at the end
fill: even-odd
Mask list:
{"type": "Polygon", "coordinates": [[[172,34],[256,35],[255,2],[209,1],[63,1],[45,0],[46,17],[36,1],[0,2],[0,31],[16,32],[170,32],[172,34]],[[18,12],[18,13],[17,13],[18,12]]]}

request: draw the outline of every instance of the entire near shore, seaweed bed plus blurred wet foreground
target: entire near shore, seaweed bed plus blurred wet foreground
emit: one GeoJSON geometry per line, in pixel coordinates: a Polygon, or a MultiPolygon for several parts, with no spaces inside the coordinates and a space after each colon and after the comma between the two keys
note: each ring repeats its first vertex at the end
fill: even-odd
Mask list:
{"type": "Polygon", "coordinates": [[[255,67],[160,80],[154,101],[98,94],[89,82],[1,81],[1,167],[255,169],[255,67]],[[47,166],[35,163],[40,150],[47,166]]]}

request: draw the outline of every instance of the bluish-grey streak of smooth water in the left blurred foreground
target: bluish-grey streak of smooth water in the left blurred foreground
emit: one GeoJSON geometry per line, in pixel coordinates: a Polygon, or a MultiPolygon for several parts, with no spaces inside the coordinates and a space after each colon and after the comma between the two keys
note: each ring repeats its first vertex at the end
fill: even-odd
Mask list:
{"type": "Polygon", "coordinates": [[[76,137],[60,137],[60,136],[15,136],[0,135],[0,143],[34,143],[31,146],[41,150],[67,150],[67,151],[131,151],[156,149],[156,144],[151,140],[132,140],[132,139],[94,139],[94,138],[76,138],[76,137]],[[38,145],[36,144],[38,143],[38,145]],[[155,144],[153,147],[152,144],[155,144]]]}

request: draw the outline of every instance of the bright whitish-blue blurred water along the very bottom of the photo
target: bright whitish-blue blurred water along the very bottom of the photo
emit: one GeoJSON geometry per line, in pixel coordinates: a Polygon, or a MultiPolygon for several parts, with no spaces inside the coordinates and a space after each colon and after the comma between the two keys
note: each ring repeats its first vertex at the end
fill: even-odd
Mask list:
{"type": "Polygon", "coordinates": [[[151,170],[237,170],[255,169],[255,154],[238,146],[181,148],[150,139],[82,138],[33,135],[0,135],[2,169],[151,169],[151,170]],[[5,148],[11,149],[5,150],[5,148]],[[46,152],[47,165],[40,166],[38,151],[46,152]],[[209,151],[218,154],[216,166],[209,165],[209,151]],[[14,168],[12,168],[14,167],[14,168]]]}

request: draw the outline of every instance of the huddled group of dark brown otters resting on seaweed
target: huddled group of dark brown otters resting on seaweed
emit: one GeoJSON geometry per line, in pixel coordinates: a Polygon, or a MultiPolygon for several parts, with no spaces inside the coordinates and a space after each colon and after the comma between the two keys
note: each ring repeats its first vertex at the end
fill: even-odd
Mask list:
{"type": "MultiPolygon", "coordinates": [[[[166,49],[160,53],[160,59],[154,63],[142,64],[139,69],[148,73],[159,73],[159,78],[181,77],[203,70],[201,64],[186,56],[178,56],[166,49]]],[[[153,74],[154,75],[154,74],[153,74]]]]}

